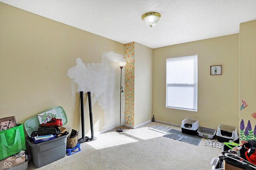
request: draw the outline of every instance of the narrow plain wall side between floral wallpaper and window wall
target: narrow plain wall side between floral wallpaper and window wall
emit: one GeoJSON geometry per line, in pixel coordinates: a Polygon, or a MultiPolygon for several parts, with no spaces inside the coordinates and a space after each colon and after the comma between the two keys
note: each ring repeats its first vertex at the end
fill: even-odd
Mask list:
{"type": "Polygon", "coordinates": [[[153,49],[135,42],[134,126],[152,118],[153,49]]]}

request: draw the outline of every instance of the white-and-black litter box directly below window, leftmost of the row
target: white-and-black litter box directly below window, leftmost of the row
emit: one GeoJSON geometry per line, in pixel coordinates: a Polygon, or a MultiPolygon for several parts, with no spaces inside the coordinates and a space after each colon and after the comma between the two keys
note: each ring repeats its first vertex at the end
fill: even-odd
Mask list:
{"type": "Polygon", "coordinates": [[[184,119],[181,124],[182,133],[188,135],[198,135],[199,122],[195,119],[184,119]]]}

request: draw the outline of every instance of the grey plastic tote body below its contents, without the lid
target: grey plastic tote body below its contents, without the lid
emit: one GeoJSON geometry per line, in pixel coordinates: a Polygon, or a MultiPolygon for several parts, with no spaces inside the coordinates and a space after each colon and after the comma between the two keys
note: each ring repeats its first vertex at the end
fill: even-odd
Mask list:
{"type": "Polygon", "coordinates": [[[30,146],[32,162],[36,168],[50,164],[66,155],[66,142],[68,135],[45,141],[42,143],[31,143],[29,138],[26,140],[30,146]]]}

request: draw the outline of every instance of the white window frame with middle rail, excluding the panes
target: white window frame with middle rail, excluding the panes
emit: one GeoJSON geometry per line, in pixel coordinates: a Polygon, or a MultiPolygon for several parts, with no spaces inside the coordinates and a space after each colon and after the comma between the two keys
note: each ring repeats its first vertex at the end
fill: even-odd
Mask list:
{"type": "MultiPolygon", "coordinates": [[[[197,111],[197,104],[198,104],[198,54],[195,55],[186,55],[186,56],[179,56],[179,57],[169,57],[166,59],[166,107],[167,108],[172,108],[172,109],[181,109],[181,110],[188,110],[188,111],[197,111]],[[177,59],[177,58],[181,58],[181,57],[192,57],[192,56],[196,56],[196,77],[194,79],[196,79],[196,81],[194,81],[194,84],[182,84],[182,83],[167,83],[167,63],[168,63],[168,59],[177,59]],[[195,96],[195,100],[193,100],[194,102],[196,102],[195,106],[196,109],[190,109],[190,108],[183,108],[183,107],[174,107],[174,106],[167,106],[167,98],[168,98],[168,87],[193,87],[194,88],[194,96],[195,96]]],[[[194,103],[193,103],[194,105],[194,103]]]]}

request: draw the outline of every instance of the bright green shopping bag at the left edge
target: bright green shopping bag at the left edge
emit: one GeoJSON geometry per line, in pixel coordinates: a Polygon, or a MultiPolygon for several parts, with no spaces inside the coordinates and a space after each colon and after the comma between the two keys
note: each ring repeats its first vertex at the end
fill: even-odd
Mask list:
{"type": "Polygon", "coordinates": [[[0,160],[26,150],[23,125],[0,131],[0,160]]]}

